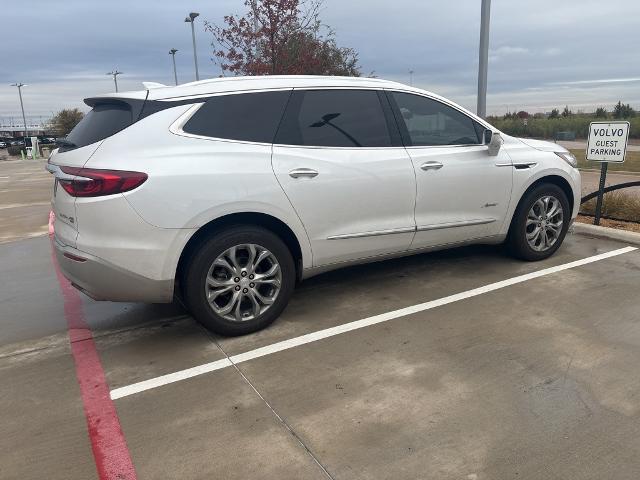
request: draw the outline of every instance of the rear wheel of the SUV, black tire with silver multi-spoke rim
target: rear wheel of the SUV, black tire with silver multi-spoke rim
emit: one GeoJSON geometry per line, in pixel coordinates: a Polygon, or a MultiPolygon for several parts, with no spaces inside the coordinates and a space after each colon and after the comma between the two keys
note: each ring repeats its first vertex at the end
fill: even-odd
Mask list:
{"type": "Polygon", "coordinates": [[[233,226],[200,245],[183,282],[185,303],[196,320],[215,333],[236,336],[261,330],[280,316],[296,270],[291,252],[273,232],[233,226]],[[263,259],[253,265],[251,258],[263,259]]]}

